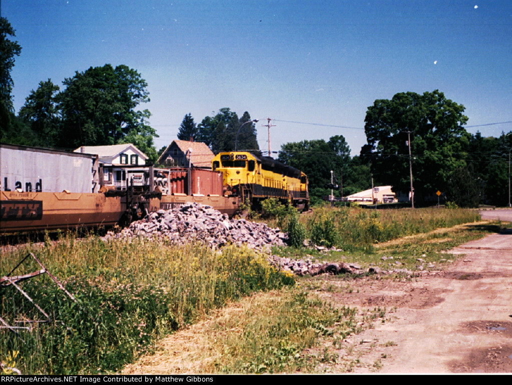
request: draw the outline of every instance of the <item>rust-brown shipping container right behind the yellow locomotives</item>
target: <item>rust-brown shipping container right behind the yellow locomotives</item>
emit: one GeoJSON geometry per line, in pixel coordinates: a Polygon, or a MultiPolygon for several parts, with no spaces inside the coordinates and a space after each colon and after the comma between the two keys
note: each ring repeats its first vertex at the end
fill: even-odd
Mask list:
{"type": "Polygon", "coordinates": [[[170,194],[222,195],[222,173],[202,168],[169,169],[170,194]]]}

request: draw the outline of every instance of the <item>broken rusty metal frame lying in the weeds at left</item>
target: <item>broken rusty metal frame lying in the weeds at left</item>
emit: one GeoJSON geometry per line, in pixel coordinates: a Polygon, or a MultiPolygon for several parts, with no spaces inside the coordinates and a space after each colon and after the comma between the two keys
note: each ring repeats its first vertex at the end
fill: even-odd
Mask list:
{"type": "MultiPolygon", "coordinates": [[[[66,288],[59,282],[59,280],[57,280],[57,278],[55,278],[55,276],[53,276],[50,273],[50,271],[48,271],[48,269],[45,267],[45,265],[43,265],[41,263],[41,261],[39,261],[33,253],[27,254],[25,256],[25,258],[23,258],[21,261],[19,261],[19,263],[11,270],[9,275],[14,273],[14,270],[16,270],[23,262],[25,262],[25,260],[28,257],[32,257],[39,264],[39,266],[41,266],[42,268],[40,270],[33,271],[32,273],[24,274],[24,275],[21,275],[21,276],[12,276],[12,277],[4,276],[4,277],[0,277],[0,289],[1,288],[6,288],[6,287],[8,287],[10,285],[14,286],[20,293],[22,293],[22,295],[25,298],[27,298],[30,301],[30,303],[32,303],[32,305],[34,305],[35,308],[37,308],[37,310],[42,315],[45,316],[46,320],[44,320],[44,321],[38,321],[38,320],[16,321],[16,322],[24,322],[24,323],[31,324],[31,326],[27,327],[27,326],[12,326],[12,325],[9,325],[4,319],[0,318],[0,323],[2,324],[2,325],[0,325],[0,329],[9,329],[10,331],[12,331],[13,333],[15,333],[18,336],[19,336],[19,333],[15,329],[27,329],[27,330],[30,331],[30,330],[32,330],[32,324],[38,323],[38,322],[50,322],[52,320],[51,320],[50,316],[43,309],[41,309],[39,307],[39,305],[37,305],[34,302],[34,300],[32,298],[30,298],[30,296],[27,294],[27,292],[25,292],[21,287],[19,287],[19,285],[16,282],[22,282],[22,281],[25,281],[27,279],[34,278],[34,277],[37,277],[37,276],[39,276],[41,274],[45,274],[46,273],[48,275],[48,277],[50,277],[55,282],[55,284],[58,286],[58,288],[61,289],[62,291],[64,291],[66,293],[66,295],[76,303],[75,297],[68,290],[66,290],[66,288]]],[[[57,321],[57,322],[60,322],[63,326],[66,326],[62,321],[57,321]]]]}

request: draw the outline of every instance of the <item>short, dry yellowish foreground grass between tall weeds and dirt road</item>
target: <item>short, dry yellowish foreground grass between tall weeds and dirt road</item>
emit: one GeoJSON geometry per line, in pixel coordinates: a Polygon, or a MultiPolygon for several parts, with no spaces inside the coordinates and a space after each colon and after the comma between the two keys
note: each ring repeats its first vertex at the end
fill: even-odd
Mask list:
{"type": "Polygon", "coordinates": [[[335,309],[298,288],[260,293],[162,339],[157,352],[123,374],[312,372],[318,357],[304,354],[354,311],[335,309]]]}

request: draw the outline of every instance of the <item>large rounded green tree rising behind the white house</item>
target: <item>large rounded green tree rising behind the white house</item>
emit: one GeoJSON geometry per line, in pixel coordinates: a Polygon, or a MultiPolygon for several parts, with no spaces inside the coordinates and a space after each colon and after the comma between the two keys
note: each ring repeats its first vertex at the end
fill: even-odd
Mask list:
{"type": "Polygon", "coordinates": [[[158,135],[147,124],[151,113],[138,109],[140,103],[150,101],[147,83],[137,71],[126,65],[114,68],[105,64],[76,72],[62,83],[66,88],[57,96],[61,146],[111,145],[126,140],[141,147],[144,143],[153,146],[153,137],[158,135]]]}

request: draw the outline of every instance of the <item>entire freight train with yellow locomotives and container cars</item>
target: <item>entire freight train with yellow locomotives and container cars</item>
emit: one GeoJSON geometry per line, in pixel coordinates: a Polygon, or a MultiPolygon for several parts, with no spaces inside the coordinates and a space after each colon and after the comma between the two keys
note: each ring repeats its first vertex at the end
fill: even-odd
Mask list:
{"type": "Polygon", "coordinates": [[[212,167],[109,165],[96,154],[0,144],[0,233],[125,225],[185,202],[229,215],[266,197],[308,208],[307,176],[272,158],[221,153],[212,167]]]}

